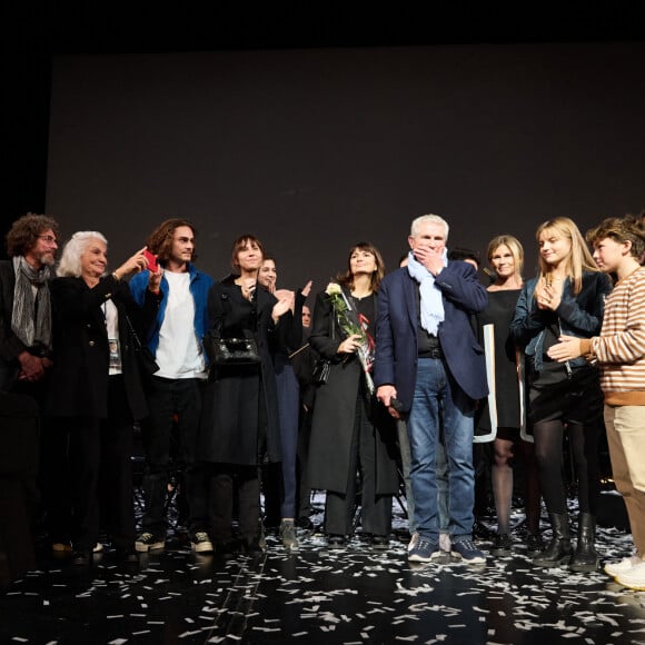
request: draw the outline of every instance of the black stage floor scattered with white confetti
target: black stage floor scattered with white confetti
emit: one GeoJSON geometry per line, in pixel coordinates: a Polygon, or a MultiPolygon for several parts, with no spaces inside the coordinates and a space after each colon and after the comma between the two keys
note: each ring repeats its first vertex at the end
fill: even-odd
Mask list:
{"type": "MultiPolygon", "coordinates": [[[[256,558],[192,554],[180,533],[133,565],[109,548],[89,568],[47,554],[0,594],[0,642],[645,643],[645,593],[602,572],[536,569],[517,533],[514,555],[479,566],[408,563],[395,536],[385,553],[360,536],[328,550],[316,532],[300,532],[296,554],[268,535],[256,558]]],[[[604,559],[631,544],[598,532],[604,559]]]]}

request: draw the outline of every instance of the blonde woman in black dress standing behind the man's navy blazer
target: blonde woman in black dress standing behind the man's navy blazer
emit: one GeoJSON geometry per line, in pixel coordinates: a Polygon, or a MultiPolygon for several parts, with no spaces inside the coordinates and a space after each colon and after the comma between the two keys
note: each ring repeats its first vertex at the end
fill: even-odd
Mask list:
{"type": "MultiPolygon", "coordinates": [[[[508,555],[513,549],[510,538],[510,503],[513,500],[513,462],[520,454],[524,465],[524,502],[526,510],[529,553],[540,550],[539,536],[539,485],[533,444],[520,437],[524,425],[520,397],[523,389],[518,378],[519,351],[510,335],[510,321],[522,291],[524,280],[524,249],[519,240],[510,235],[500,235],[488,244],[488,264],[495,271],[495,282],[488,287],[488,305],[479,315],[479,325],[486,339],[487,364],[492,367],[488,406],[479,420],[479,430],[486,439],[494,440],[495,460],[492,480],[497,535],[493,555],[508,555]]],[[[484,439],[483,439],[484,440],[484,439]]]]}

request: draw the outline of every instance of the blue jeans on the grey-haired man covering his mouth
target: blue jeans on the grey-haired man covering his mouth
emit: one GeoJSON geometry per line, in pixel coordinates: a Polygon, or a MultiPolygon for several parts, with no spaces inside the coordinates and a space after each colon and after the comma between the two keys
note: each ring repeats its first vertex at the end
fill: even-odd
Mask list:
{"type": "Polygon", "coordinates": [[[419,358],[408,419],[411,449],[415,524],[424,537],[439,539],[437,445],[444,427],[448,460],[448,513],[453,540],[473,535],[475,475],[473,470],[474,401],[459,388],[438,358],[419,358]]]}

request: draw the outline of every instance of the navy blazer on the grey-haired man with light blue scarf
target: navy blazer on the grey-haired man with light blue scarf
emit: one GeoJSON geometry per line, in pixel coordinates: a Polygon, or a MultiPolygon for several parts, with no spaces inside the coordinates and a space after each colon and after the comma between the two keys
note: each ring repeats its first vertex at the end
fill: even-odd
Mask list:
{"type": "MultiPolygon", "coordinates": [[[[436,285],[444,300],[438,337],[448,369],[468,397],[484,398],[488,394],[486,363],[470,316],[486,308],[486,289],[473,266],[458,260],[448,262],[436,285]]],[[[407,268],[401,268],[386,276],[378,291],[374,381],[377,387],[394,385],[406,411],[413,404],[417,376],[418,288],[407,268]]]]}

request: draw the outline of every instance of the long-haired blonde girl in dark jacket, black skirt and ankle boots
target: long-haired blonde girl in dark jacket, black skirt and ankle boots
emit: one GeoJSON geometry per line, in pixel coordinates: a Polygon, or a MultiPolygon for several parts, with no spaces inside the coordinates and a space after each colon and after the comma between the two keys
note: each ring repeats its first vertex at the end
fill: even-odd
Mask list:
{"type": "Polygon", "coordinates": [[[595,515],[598,500],[598,437],[603,429],[603,394],[598,371],[585,359],[558,363],[549,347],[563,335],[597,336],[603,322],[609,278],[592,258],[577,226],[567,217],[542,224],[536,232],[539,272],[519,296],[512,331],[525,347],[529,405],[539,484],[553,528],[552,540],[534,558],[542,567],[569,565],[594,570],[595,515]],[[567,495],[562,472],[565,428],[578,485],[578,540],[572,549],[567,495]]]}

